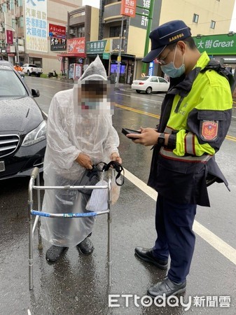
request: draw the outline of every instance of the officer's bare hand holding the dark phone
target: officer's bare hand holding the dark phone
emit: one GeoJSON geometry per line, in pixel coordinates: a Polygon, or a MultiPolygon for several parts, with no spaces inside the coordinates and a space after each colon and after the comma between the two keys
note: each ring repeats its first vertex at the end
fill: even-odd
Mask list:
{"type": "Polygon", "coordinates": [[[134,144],[142,144],[143,146],[154,146],[160,135],[156,129],[140,127],[141,134],[127,134],[127,138],[131,138],[134,144]]]}

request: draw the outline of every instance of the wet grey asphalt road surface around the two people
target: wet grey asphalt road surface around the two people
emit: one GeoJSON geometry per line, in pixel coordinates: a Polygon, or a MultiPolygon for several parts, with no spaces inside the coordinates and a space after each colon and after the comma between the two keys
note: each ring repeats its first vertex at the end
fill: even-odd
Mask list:
{"type": "MultiPolygon", "coordinates": [[[[71,88],[71,83],[42,78],[26,78],[29,87],[39,88],[37,99],[48,112],[50,99],[55,92],[71,88]]],[[[125,87],[116,92],[116,108],[113,125],[120,136],[120,155],[123,166],[146,183],[151,162],[150,148],[137,146],[121,134],[122,127],[137,129],[154,127],[158,123],[162,94],[137,94],[125,87]],[[127,108],[125,108],[125,107],[127,108]],[[149,113],[149,114],[148,114],[149,113]]],[[[235,115],[236,116],[236,115],[235,115]]],[[[90,256],[81,255],[76,248],[69,248],[62,260],[55,265],[46,262],[48,243],[37,249],[34,239],[34,290],[28,289],[28,227],[27,186],[28,179],[0,182],[0,314],[34,315],[94,315],[94,314],[236,314],[235,288],[235,201],[236,201],[236,120],[232,120],[228,139],[217,161],[230,183],[231,193],[221,184],[209,188],[211,208],[198,207],[196,221],[196,246],[183,300],[192,303],[188,311],[176,307],[144,307],[134,304],[130,297],[116,297],[120,307],[109,307],[109,293],[113,295],[138,295],[143,297],[153,283],[165,276],[165,272],[141,262],[134,256],[136,246],[151,247],[155,241],[155,200],[125,179],[120,198],[112,208],[112,286],[107,287],[106,216],[99,216],[92,232],[95,251],[90,256]],[[206,230],[204,230],[204,228],[206,230]],[[211,235],[211,233],[213,235],[211,235]],[[218,238],[216,238],[216,237],[218,238]],[[221,245],[221,241],[225,243],[221,245]],[[232,255],[228,256],[228,246],[232,255]],[[222,247],[219,249],[219,247],[222,247]],[[230,248],[229,248],[230,249],[230,248]],[[226,256],[226,257],[225,257],[226,256]],[[228,257],[228,258],[227,258],[228,257]],[[194,297],[207,300],[230,296],[230,307],[196,307],[194,297]]],[[[144,189],[145,190],[145,189],[144,189]]],[[[34,198],[36,201],[36,198],[34,198]]],[[[208,304],[209,305],[209,304],[208,304]]]]}

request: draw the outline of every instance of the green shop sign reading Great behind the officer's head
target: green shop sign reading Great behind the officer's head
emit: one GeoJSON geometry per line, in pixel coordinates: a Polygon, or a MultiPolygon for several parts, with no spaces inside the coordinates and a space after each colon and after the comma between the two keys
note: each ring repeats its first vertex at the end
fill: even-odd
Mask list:
{"type": "Polygon", "coordinates": [[[208,55],[235,55],[236,54],[236,34],[197,36],[193,37],[200,52],[206,51],[208,55]]]}

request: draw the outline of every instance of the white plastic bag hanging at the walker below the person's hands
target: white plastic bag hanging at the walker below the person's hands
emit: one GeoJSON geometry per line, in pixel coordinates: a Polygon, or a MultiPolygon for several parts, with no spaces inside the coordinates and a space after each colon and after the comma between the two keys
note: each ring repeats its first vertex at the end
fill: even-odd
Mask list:
{"type": "MultiPolygon", "coordinates": [[[[95,186],[107,186],[104,180],[99,181],[95,186]]],[[[87,202],[86,210],[88,211],[104,211],[108,208],[108,188],[94,189],[90,199],[87,202]]]]}

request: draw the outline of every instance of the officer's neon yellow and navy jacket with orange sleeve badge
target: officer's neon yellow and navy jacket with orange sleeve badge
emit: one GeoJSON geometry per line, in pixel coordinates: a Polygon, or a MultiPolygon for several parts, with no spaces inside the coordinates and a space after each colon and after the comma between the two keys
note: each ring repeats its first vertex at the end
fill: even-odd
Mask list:
{"type": "Polygon", "coordinates": [[[228,132],[232,95],[227,78],[204,68],[203,52],[194,69],[169,88],[162,103],[158,132],[169,133],[173,147],[153,148],[148,185],[178,203],[209,206],[206,179],[228,185],[214,160],[228,132]]]}

